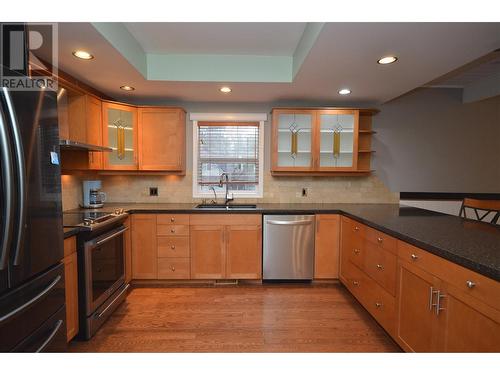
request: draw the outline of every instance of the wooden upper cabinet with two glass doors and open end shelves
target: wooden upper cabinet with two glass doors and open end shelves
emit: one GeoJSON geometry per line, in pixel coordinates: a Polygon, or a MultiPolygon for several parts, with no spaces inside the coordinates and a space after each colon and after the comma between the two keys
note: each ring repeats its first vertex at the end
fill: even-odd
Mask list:
{"type": "Polygon", "coordinates": [[[349,108],[273,109],[271,172],[319,176],[369,173],[373,113],[349,108]],[[364,134],[363,148],[360,134],[364,134]]]}

